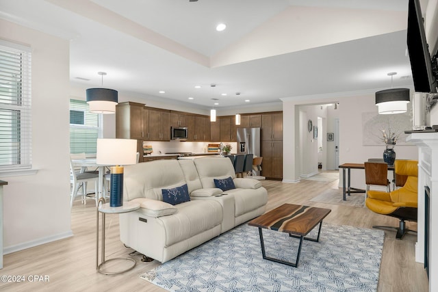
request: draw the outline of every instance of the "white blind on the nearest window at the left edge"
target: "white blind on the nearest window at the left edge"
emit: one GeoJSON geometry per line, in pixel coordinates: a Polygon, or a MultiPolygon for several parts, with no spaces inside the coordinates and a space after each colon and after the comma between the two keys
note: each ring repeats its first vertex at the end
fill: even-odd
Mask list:
{"type": "Polygon", "coordinates": [[[0,172],[31,168],[31,52],[0,40],[0,172]]]}

